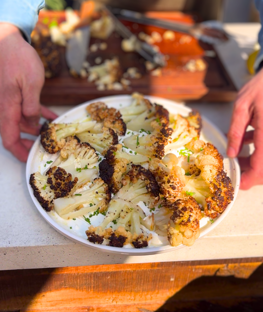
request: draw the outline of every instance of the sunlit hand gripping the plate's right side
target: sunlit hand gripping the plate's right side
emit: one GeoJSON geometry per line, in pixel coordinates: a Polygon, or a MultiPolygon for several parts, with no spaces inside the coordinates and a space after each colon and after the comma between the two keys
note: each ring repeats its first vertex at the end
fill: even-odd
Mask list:
{"type": "Polygon", "coordinates": [[[243,144],[254,142],[254,153],[239,161],[242,172],[240,189],[248,190],[263,184],[263,70],[239,91],[227,137],[229,157],[238,156],[243,144]],[[255,130],[246,132],[248,125],[255,130]]]}

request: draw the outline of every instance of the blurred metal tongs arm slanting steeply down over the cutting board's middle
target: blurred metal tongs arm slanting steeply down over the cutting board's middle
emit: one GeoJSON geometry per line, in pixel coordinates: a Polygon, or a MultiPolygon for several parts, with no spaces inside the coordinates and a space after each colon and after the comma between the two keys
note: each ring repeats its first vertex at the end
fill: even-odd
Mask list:
{"type": "MultiPolygon", "coordinates": [[[[124,26],[112,13],[112,9],[110,7],[105,8],[105,10],[109,14],[109,16],[112,17],[115,24],[115,30],[122,38],[130,39],[131,37],[134,37],[134,34],[126,26],[124,26]]],[[[140,41],[138,38],[135,39],[135,51],[138,52],[145,59],[154,63],[156,66],[163,67],[167,64],[165,57],[162,53],[156,52],[152,46],[150,46],[146,42],[140,41]]]]}

